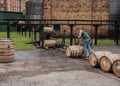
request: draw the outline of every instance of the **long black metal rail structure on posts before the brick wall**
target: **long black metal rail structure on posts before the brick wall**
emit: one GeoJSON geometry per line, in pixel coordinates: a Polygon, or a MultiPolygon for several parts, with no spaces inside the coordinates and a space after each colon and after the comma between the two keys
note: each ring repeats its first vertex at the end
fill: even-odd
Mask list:
{"type": "MultiPolygon", "coordinates": [[[[7,38],[10,38],[10,26],[16,25],[18,30],[20,31],[20,27],[35,27],[35,36],[36,36],[36,27],[39,27],[39,34],[40,40],[42,41],[42,46],[44,45],[44,33],[43,33],[43,27],[45,25],[68,25],[70,27],[70,45],[73,44],[73,27],[77,25],[90,25],[93,26],[95,29],[95,45],[97,45],[97,39],[98,39],[98,27],[102,25],[112,25],[115,26],[116,33],[116,44],[119,44],[119,27],[117,21],[114,20],[51,20],[51,19],[5,19],[7,21],[7,38]],[[18,23],[19,21],[24,21],[25,23],[18,23]],[[26,22],[38,22],[38,23],[26,23],[26,22]]],[[[30,33],[30,29],[29,29],[30,33]]],[[[26,34],[26,29],[25,29],[26,34]]],[[[29,34],[30,35],[30,34],[29,34]]]]}

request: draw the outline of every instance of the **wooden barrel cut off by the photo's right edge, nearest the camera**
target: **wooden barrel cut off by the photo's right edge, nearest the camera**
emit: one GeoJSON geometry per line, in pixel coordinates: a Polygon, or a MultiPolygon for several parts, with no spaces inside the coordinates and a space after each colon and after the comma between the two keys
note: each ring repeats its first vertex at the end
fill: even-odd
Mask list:
{"type": "Polygon", "coordinates": [[[112,65],[112,70],[114,74],[120,78],[120,59],[115,60],[112,65]]]}

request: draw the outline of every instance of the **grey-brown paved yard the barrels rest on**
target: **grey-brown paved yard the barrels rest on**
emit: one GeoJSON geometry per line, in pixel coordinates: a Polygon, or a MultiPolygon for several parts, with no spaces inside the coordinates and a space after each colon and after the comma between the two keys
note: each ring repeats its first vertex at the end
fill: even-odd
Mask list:
{"type": "MultiPolygon", "coordinates": [[[[120,46],[93,49],[120,53],[120,46]]],[[[120,79],[113,73],[64,54],[59,49],[16,51],[15,61],[0,63],[0,86],[120,86],[120,79]]]]}

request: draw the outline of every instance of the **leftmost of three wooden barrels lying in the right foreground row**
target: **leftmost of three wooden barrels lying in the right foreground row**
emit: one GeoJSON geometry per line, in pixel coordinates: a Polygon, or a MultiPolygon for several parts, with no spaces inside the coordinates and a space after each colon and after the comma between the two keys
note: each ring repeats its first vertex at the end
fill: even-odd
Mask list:
{"type": "Polygon", "coordinates": [[[111,52],[108,51],[97,51],[94,53],[91,53],[89,55],[89,63],[92,67],[99,67],[100,66],[100,58],[102,56],[106,56],[112,54],[111,52]]]}

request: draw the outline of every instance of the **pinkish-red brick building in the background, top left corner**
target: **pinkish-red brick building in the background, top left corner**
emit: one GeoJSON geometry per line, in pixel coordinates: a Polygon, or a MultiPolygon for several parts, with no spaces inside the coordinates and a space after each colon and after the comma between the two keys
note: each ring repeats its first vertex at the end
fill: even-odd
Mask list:
{"type": "Polygon", "coordinates": [[[0,11],[22,12],[28,0],[0,0],[0,11]]]}

